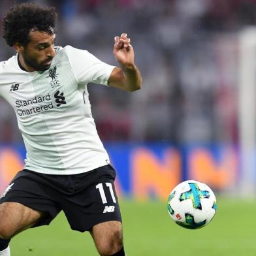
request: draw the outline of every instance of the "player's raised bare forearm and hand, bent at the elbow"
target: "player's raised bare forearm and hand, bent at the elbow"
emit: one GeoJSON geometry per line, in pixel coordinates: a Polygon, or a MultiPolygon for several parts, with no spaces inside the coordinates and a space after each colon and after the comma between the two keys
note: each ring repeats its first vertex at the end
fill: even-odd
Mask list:
{"type": "Polygon", "coordinates": [[[113,54],[121,67],[114,68],[108,84],[125,91],[136,91],[141,88],[142,77],[135,65],[135,54],[130,42],[126,33],[122,33],[121,37],[115,37],[113,54]]]}

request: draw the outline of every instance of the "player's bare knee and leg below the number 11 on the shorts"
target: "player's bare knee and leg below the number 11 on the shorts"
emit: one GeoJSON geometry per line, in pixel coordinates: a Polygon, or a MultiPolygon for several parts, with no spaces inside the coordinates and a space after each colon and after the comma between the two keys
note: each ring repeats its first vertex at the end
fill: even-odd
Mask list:
{"type": "Polygon", "coordinates": [[[106,221],[93,226],[91,236],[101,256],[114,255],[123,248],[123,231],[120,221],[106,221]]]}

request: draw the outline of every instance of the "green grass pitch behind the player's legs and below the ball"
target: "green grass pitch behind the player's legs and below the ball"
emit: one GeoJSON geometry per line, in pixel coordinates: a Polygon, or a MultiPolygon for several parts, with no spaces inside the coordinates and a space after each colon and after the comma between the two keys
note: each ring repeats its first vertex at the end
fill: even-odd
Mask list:
{"type": "MultiPolygon", "coordinates": [[[[127,256],[256,255],[254,201],[219,199],[212,222],[198,230],[179,227],[167,202],[120,202],[127,256]]],[[[97,256],[88,233],[71,231],[63,214],[50,226],[29,229],[10,244],[12,256],[97,256]]]]}

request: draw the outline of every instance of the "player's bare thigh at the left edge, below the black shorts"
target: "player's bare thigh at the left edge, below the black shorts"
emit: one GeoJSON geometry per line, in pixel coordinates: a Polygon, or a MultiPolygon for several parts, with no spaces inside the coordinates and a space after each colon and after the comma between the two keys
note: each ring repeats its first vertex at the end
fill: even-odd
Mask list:
{"type": "Polygon", "coordinates": [[[0,238],[10,239],[32,227],[44,214],[18,202],[0,204],[0,238]]]}

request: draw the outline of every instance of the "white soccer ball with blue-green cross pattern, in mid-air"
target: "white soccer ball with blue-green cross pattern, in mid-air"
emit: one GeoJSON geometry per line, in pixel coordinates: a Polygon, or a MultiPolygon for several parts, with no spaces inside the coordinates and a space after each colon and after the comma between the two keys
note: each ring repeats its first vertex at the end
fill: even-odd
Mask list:
{"type": "Polygon", "coordinates": [[[170,217],[181,227],[199,229],[214,217],[216,197],[208,185],[187,180],[174,187],[168,198],[167,209],[170,217]]]}

